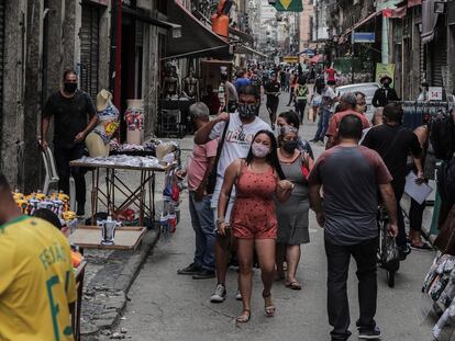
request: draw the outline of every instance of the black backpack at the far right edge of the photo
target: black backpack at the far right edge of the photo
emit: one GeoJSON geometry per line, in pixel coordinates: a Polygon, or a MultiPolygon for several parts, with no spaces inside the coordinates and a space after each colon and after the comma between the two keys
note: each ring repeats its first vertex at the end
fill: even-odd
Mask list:
{"type": "Polygon", "coordinates": [[[430,140],[436,159],[445,161],[452,159],[455,151],[455,126],[452,115],[433,118],[430,140]]]}

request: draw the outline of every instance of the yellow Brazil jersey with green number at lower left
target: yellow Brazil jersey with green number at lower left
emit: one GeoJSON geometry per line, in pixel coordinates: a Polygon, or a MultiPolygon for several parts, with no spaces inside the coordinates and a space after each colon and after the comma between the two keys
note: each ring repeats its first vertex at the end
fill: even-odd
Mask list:
{"type": "Polygon", "coordinates": [[[26,216],[0,226],[0,341],[74,340],[70,248],[53,225],[26,216]]]}

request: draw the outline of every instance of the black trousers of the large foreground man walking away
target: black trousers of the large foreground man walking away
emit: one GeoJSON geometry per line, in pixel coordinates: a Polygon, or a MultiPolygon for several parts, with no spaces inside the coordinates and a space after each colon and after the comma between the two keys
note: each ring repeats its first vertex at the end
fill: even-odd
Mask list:
{"type": "Polygon", "coordinates": [[[357,263],[358,279],[358,305],[360,317],[357,327],[362,330],[370,330],[376,327],[376,252],[377,238],[366,240],[354,246],[334,245],[325,238],[325,254],[328,257],[328,312],[332,341],[347,340],[349,305],[347,302],[346,281],[349,269],[351,255],[357,263]]]}

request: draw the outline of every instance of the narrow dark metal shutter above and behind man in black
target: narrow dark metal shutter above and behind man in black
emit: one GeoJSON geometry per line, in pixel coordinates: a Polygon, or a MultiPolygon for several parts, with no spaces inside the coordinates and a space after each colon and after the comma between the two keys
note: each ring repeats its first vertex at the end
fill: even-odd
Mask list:
{"type": "Polygon", "coordinates": [[[80,27],[80,89],[95,100],[98,93],[98,65],[100,50],[100,11],[93,5],[82,5],[80,27]]]}

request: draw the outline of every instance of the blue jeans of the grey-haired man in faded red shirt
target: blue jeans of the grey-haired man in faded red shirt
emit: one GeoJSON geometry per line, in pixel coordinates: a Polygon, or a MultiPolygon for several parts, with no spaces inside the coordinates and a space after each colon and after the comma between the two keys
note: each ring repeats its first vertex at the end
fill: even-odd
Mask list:
{"type": "Polygon", "coordinates": [[[211,195],[206,195],[202,201],[195,200],[195,192],[189,192],[189,209],[191,225],[196,235],[195,264],[204,270],[214,269],[214,220],[210,208],[211,195]]]}

